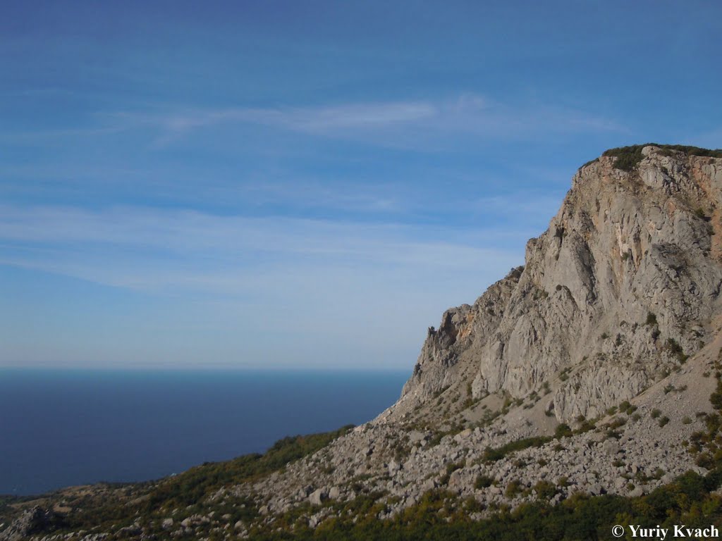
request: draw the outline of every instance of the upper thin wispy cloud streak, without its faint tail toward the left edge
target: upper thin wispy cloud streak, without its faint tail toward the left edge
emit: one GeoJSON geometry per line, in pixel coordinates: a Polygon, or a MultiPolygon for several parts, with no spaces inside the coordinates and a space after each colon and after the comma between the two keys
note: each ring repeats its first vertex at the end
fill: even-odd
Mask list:
{"type": "Polygon", "coordinates": [[[478,94],[448,100],[366,102],[308,107],[188,108],[171,113],[118,113],[118,120],[158,131],[168,144],[201,128],[260,125],[318,136],[363,138],[376,144],[409,144],[459,133],[528,138],[544,133],[626,131],[616,121],[544,104],[510,105],[478,94]]]}

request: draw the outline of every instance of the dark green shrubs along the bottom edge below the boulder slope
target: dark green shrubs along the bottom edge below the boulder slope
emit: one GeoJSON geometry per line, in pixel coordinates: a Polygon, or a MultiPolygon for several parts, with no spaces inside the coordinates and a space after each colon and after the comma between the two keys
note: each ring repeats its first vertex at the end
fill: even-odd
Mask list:
{"type": "MultiPolygon", "coordinates": [[[[511,484],[511,483],[510,483],[511,484]]],[[[709,494],[706,478],[689,473],[674,483],[658,488],[649,496],[622,498],[620,496],[587,496],[574,494],[560,505],[549,506],[544,501],[523,503],[514,511],[503,510],[474,522],[465,504],[449,493],[431,491],[421,502],[387,521],[374,517],[352,524],[350,519],[336,519],[322,524],[316,532],[303,529],[295,534],[267,533],[253,536],[254,540],[314,540],[314,541],[402,541],[402,540],[458,540],[458,541],[563,541],[581,539],[614,539],[614,524],[640,524],[668,527],[671,524],[719,524],[722,520],[718,496],[709,494]],[[705,502],[704,514],[700,504],[705,502]]],[[[539,487],[548,496],[547,487],[539,487]]],[[[520,489],[520,487],[516,487],[520,489]]],[[[536,487],[535,487],[536,490],[536,487]]],[[[537,491],[539,493],[539,491],[537,491]]]]}

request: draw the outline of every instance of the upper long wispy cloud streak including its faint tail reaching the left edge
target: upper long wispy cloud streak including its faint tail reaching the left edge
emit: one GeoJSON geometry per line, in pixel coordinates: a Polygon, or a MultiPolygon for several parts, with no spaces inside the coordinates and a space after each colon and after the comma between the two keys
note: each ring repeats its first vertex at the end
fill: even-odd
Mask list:
{"type": "Polygon", "coordinates": [[[146,106],[143,110],[96,111],[84,126],[0,131],[11,144],[48,144],[68,138],[123,138],[125,133],[162,148],[195,133],[269,128],[305,136],[344,138],[373,146],[453,149],[460,142],[528,141],[569,133],[628,133],[614,119],[559,105],[508,103],[479,94],[434,100],[347,102],[278,107],[146,106]]]}

